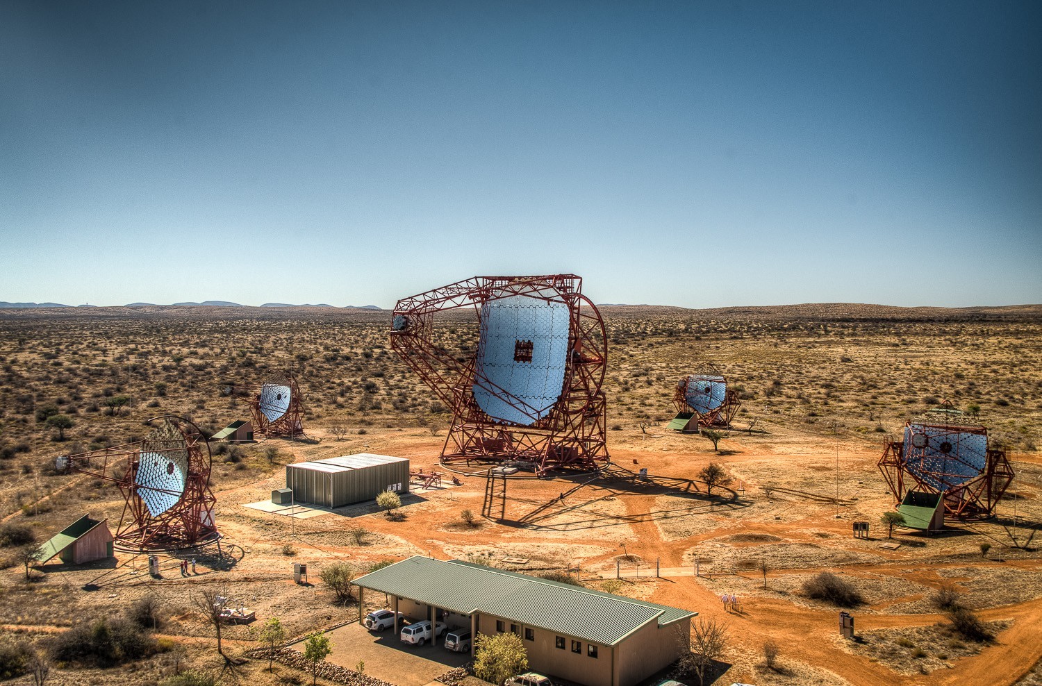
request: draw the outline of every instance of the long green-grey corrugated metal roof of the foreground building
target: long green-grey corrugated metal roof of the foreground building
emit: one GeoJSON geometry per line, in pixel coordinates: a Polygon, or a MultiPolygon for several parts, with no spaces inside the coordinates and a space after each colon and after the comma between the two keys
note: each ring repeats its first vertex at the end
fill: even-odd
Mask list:
{"type": "Polygon", "coordinates": [[[698,614],[463,560],[421,556],[352,583],[450,612],[483,612],[601,645],[615,645],[651,621],[664,627],[698,614]]]}

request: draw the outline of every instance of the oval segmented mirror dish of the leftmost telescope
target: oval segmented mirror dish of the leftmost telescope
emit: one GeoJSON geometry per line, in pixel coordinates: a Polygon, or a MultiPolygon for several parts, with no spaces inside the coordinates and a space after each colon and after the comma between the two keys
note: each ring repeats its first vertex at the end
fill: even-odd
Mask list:
{"type": "Polygon", "coordinates": [[[149,514],[159,516],[177,504],[184,493],[188,475],[188,446],[173,424],[164,424],[142,441],[134,490],[149,514]]]}

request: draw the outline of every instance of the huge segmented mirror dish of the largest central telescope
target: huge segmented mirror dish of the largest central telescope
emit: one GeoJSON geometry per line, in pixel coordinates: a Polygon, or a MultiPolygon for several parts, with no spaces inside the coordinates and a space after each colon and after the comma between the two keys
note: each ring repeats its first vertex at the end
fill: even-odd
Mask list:
{"type": "Polygon", "coordinates": [[[495,420],[530,426],[550,412],[564,387],[569,307],[564,302],[508,296],[483,303],[480,321],[474,400],[495,420]]]}

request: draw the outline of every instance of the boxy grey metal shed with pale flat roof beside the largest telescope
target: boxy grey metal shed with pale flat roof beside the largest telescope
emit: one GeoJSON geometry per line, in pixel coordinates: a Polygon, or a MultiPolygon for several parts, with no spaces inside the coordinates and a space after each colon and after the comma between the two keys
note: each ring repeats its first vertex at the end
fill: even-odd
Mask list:
{"type": "Polygon", "coordinates": [[[408,460],[358,453],[286,465],[286,487],[296,503],[343,507],[384,490],[408,492],[408,460]]]}

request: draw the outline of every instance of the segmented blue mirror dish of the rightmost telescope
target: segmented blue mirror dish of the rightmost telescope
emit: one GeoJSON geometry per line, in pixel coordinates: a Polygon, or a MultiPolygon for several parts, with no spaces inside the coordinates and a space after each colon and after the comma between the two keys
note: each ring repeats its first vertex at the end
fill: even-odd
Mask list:
{"type": "Polygon", "coordinates": [[[981,476],[988,464],[988,436],[958,427],[910,424],[904,427],[904,464],[938,490],[981,476]]]}

